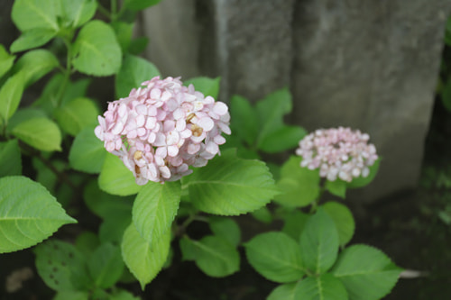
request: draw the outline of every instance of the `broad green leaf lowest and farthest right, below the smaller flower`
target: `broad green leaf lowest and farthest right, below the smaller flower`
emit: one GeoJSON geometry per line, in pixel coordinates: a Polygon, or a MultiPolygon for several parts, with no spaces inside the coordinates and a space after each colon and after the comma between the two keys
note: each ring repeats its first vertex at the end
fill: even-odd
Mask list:
{"type": "Polygon", "coordinates": [[[343,250],[331,273],[345,285],[351,300],[376,300],[395,286],[401,269],[381,250],[353,245],[343,250]]]}

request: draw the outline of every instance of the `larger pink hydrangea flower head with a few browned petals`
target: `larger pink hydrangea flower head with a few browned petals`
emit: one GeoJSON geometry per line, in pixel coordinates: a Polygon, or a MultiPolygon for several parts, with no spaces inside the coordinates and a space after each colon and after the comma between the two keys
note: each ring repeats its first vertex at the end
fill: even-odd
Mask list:
{"type": "Polygon", "coordinates": [[[153,77],[98,116],[95,133],[129,168],[138,185],[189,175],[219,153],[230,134],[227,105],[179,78],[153,77]]]}

